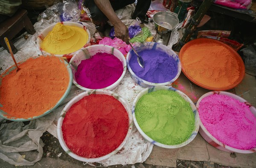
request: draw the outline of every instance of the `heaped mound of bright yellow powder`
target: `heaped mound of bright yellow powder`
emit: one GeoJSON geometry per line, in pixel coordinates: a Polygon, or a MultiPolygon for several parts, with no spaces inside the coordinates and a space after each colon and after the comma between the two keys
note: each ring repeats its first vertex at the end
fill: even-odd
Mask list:
{"type": "Polygon", "coordinates": [[[57,23],[44,38],[41,48],[51,54],[68,54],[82,48],[88,41],[83,28],[57,23]]]}

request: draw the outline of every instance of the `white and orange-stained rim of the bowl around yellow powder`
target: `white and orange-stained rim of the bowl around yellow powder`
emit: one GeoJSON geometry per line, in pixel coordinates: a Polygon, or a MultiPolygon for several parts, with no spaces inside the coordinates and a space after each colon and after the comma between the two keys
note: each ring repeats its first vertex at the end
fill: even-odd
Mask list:
{"type": "Polygon", "coordinates": [[[61,24],[63,25],[70,25],[70,26],[76,26],[76,27],[79,27],[79,28],[83,28],[86,32],[87,32],[87,36],[88,36],[88,40],[87,42],[84,44],[84,46],[82,48],[80,48],[79,50],[77,51],[74,51],[73,53],[66,53],[66,54],[53,54],[53,53],[48,53],[47,51],[43,50],[41,48],[41,43],[42,41],[44,40],[44,38],[47,36],[47,34],[52,31],[53,27],[56,25],[57,23],[54,23],[54,24],[51,24],[49,25],[48,27],[44,28],[43,31],[40,32],[40,34],[38,35],[37,37],[37,47],[39,50],[41,50],[41,52],[44,54],[44,55],[49,55],[49,56],[59,56],[59,57],[71,57],[73,56],[75,53],[77,53],[79,50],[87,47],[89,45],[89,42],[90,42],[90,31],[81,23],[81,22],[61,22],[61,24]]]}

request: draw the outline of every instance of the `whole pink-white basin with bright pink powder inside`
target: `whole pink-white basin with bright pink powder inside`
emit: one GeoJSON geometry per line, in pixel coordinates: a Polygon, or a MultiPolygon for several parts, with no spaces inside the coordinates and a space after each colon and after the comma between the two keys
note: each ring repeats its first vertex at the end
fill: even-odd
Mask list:
{"type": "Polygon", "coordinates": [[[256,151],[256,109],[238,95],[208,92],[199,98],[199,132],[222,151],[249,154],[256,151]]]}

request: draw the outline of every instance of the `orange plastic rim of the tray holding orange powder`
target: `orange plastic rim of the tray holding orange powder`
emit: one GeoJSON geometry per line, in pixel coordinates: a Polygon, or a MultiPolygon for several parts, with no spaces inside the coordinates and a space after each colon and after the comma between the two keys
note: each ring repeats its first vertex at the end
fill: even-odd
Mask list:
{"type": "Polygon", "coordinates": [[[193,83],[197,84],[200,87],[203,87],[205,89],[208,90],[216,90],[216,91],[223,91],[223,90],[230,90],[234,87],[236,87],[244,78],[245,75],[245,67],[244,67],[244,62],[241,59],[241,56],[236,52],[236,50],[234,50],[232,47],[230,47],[229,45],[226,45],[218,40],[215,39],[207,39],[207,38],[199,38],[199,39],[194,39],[191,40],[190,42],[187,42],[180,50],[180,54],[179,54],[179,58],[180,58],[180,62],[181,62],[181,67],[182,67],[182,72],[186,75],[187,78],[189,78],[190,81],[192,81],[193,83]],[[230,85],[227,86],[223,86],[223,87],[212,87],[212,86],[207,86],[207,82],[199,82],[197,81],[195,78],[192,78],[191,75],[189,75],[189,70],[188,67],[186,67],[186,65],[184,65],[184,60],[183,60],[183,56],[186,50],[189,50],[189,48],[192,45],[200,45],[200,44],[205,44],[205,43],[215,43],[216,45],[222,45],[225,48],[227,48],[228,50],[230,50],[230,52],[232,53],[232,56],[234,59],[236,59],[238,66],[239,66],[239,78],[230,85]]]}

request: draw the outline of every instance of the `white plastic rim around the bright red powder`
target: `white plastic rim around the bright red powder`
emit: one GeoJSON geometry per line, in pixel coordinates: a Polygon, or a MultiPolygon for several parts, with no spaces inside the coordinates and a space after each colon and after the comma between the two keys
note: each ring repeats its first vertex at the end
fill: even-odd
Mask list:
{"type": "Polygon", "coordinates": [[[132,115],[131,115],[131,110],[129,109],[128,103],[118,94],[116,94],[115,92],[109,91],[109,90],[91,90],[91,91],[87,91],[87,92],[83,92],[79,95],[77,95],[76,97],[74,97],[71,101],[68,102],[68,104],[64,107],[64,109],[61,112],[61,115],[58,119],[58,126],[57,126],[57,133],[58,133],[58,140],[61,144],[61,147],[63,148],[63,150],[70,155],[71,157],[73,157],[76,160],[80,160],[82,162],[99,162],[102,160],[106,160],[109,157],[113,156],[114,154],[116,154],[118,151],[120,151],[122,149],[122,147],[128,143],[128,138],[130,137],[131,131],[132,131],[132,125],[133,125],[133,121],[132,121],[132,115]],[[70,109],[70,107],[75,104],[76,102],[78,102],[79,100],[81,100],[82,98],[84,98],[85,96],[91,95],[91,94],[105,94],[105,95],[111,95],[114,98],[116,98],[116,100],[120,101],[122,103],[122,105],[125,107],[126,112],[128,113],[128,118],[129,118],[129,128],[128,128],[128,132],[125,136],[125,139],[123,140],[123,142],[118,146],[118,148],[116,148],[114,151],[112,151],[111,153],[102,156],[102,157],[97,157],[97,158],[85,158],[85,157],[81,157],[75,153],[73,153],[66,145],[64,139],[63,139],[63,134],[62,134],[62,130],[61,130],[61,126],[64,120],[64,117],[67,113],[67,111],[70,109]]]}

